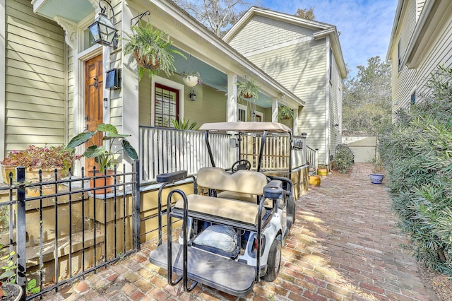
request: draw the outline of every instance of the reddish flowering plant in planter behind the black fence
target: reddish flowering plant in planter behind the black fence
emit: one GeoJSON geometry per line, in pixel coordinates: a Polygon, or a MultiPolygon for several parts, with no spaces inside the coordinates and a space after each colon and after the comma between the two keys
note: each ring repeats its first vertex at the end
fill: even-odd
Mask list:
{"type": "Polygon", "coordinates": [[[75,155],[73,148],[64,146],[29,146],[25,151],[12,151],[1,161],[2,165],[23,166],[27,170],[61,170],[61,176],[68,175],[69,168],[82,156],[75,155]]]}

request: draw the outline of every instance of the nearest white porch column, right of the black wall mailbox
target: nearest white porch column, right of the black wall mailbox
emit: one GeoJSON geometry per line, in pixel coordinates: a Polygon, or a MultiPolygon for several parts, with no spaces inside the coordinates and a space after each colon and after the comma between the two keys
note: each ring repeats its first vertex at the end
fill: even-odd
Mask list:
{"type": "MultiPolygon", "coordinates": [[[[130,20],[133,18],[129,6],[122,6],[122,18],[121,18],[121,33],[125,36],[125,33],[131,33],[130,20]]],[[[129,64],[129,56],[124,55],[121,52],[122,59],[122,127],[124,134],[131,134],[127,137],[127,141],[131,143],[133,148],[138,151],[140,141],[140,128],[138,122],[139,102],[138,102],[138,72],[136,71],[136,64],[129,64]]],[[[139,156],[139,155],[138,155],[139,156]]],[[[124,158],[129,160],[125,155],[124,158]]],[[[131,168],[131,165],[127,165],[127,168],[131,168]]]]}

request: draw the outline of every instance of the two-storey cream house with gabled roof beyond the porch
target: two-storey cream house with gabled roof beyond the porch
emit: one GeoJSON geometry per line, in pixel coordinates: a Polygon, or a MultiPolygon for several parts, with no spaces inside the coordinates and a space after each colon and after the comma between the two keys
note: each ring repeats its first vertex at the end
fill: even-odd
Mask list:
{"type": "Polygon", "coordinates": [[[341,143],[342,79],[346,77],[334,25],[252,7],[223,38],[306,102],[295,109],[295,133],[308,133],[319,163],[330,163],[341,143]]]}

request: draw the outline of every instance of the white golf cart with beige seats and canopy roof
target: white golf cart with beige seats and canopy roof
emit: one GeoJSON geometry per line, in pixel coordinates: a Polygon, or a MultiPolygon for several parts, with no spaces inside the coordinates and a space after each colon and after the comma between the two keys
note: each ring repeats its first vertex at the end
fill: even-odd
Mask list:
{"type": "MultiPolygon", "coordinates": [[[[157,176],[157,182],[162,183],[158,199],[159,241],[149,260],[167,269],[170,285],[183,280],[186,292],[203,283],[231,295],[248,295],[261,278],[277,278],[281,247],[295,222],[292,181],[270,175],[272,172],[265,174],[261,168],[263,161],[270,160],[264,155],[268,151],[267,140],[273,135],[285,136],[292,145],[292,133],[287,126],[272,122],[210,123],[203,124],[200,130],[205,131],[212,167],[201,168],[193,177],[194,194],[173,189],[166,204],[162,204],[162,189],[186,179],[187,172],[157,176]],[[239,149],[254,149],[258,153],[252,162],[246,160],[246,154],[239,153],[239,160],[228,170],[215,167],[209,141],[209,134],[214,131],[237,133],[238,143],[232,140],[230,144],[237,143],[239,149]],[[241,144],[246,141],[250,145],[244,148],[241,144]],[[167,227],[167,241],[162,241],[164,213],[168,225],[172,225],[173,218],[182,219],[177,242],[172,242],[172,227],[167,227]],[[173,273],[179,275],[175,281],[173,273]]],[[[288,160],[290,163],[290,155],[288,160]]],[[[287,166],[290,175],[290,164],[287,166]]]]}

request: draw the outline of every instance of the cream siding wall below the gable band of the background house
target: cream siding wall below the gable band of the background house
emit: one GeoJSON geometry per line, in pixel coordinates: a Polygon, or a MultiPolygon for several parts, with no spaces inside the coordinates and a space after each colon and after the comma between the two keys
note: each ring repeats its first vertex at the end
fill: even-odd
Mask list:
{"type": "Polygon", "coordinates": [[[249,59],[306,102],[299,114],[307,145],[326,158],[326,40],[310,40],[258,54],[249,59]]]}

